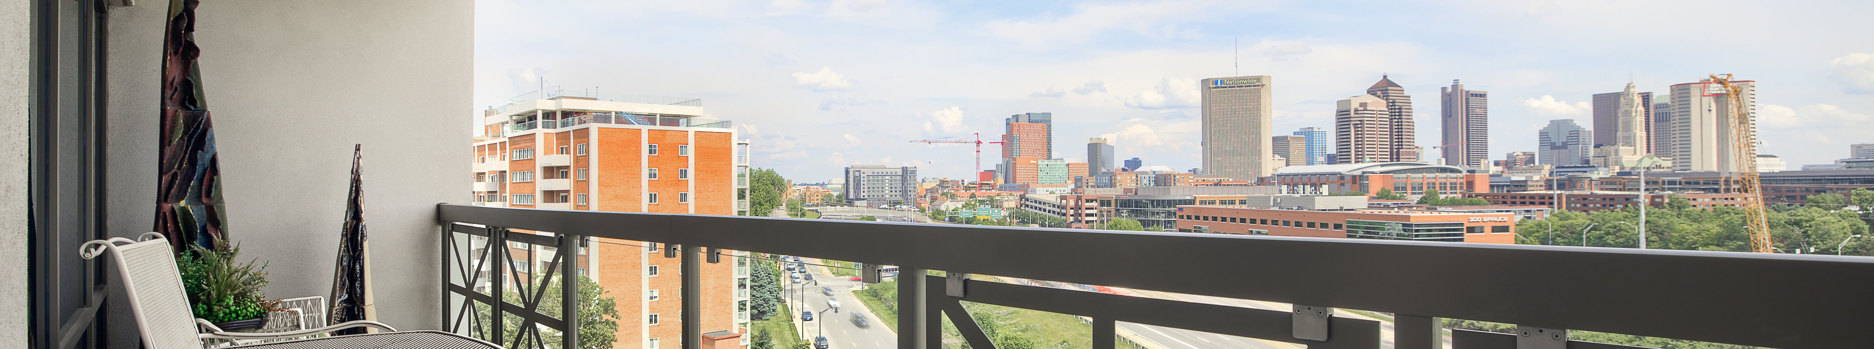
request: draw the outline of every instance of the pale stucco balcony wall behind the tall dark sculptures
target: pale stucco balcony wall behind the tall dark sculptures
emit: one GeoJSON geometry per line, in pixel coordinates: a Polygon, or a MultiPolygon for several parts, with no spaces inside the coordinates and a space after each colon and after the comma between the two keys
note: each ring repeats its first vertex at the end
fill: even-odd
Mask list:
{"type": "MultiPolygon", "coordinates": [[[[152,223],[163,11],[165,2],[137,2],[109,15],[109,229],[118,236],[152,223]]],[[[461,111],[472,15],[470,0],[202,2],[195,39],[227,229],[245,257],[270,261],[268,296],[330,296],[350,150],[362,143],[379,319],[440,326],[435,205],[468,197],[463,129],[472,118],[461,111]]],[[[120,304],[111,317],[112,341],[133,343],[120,304]]]]}

